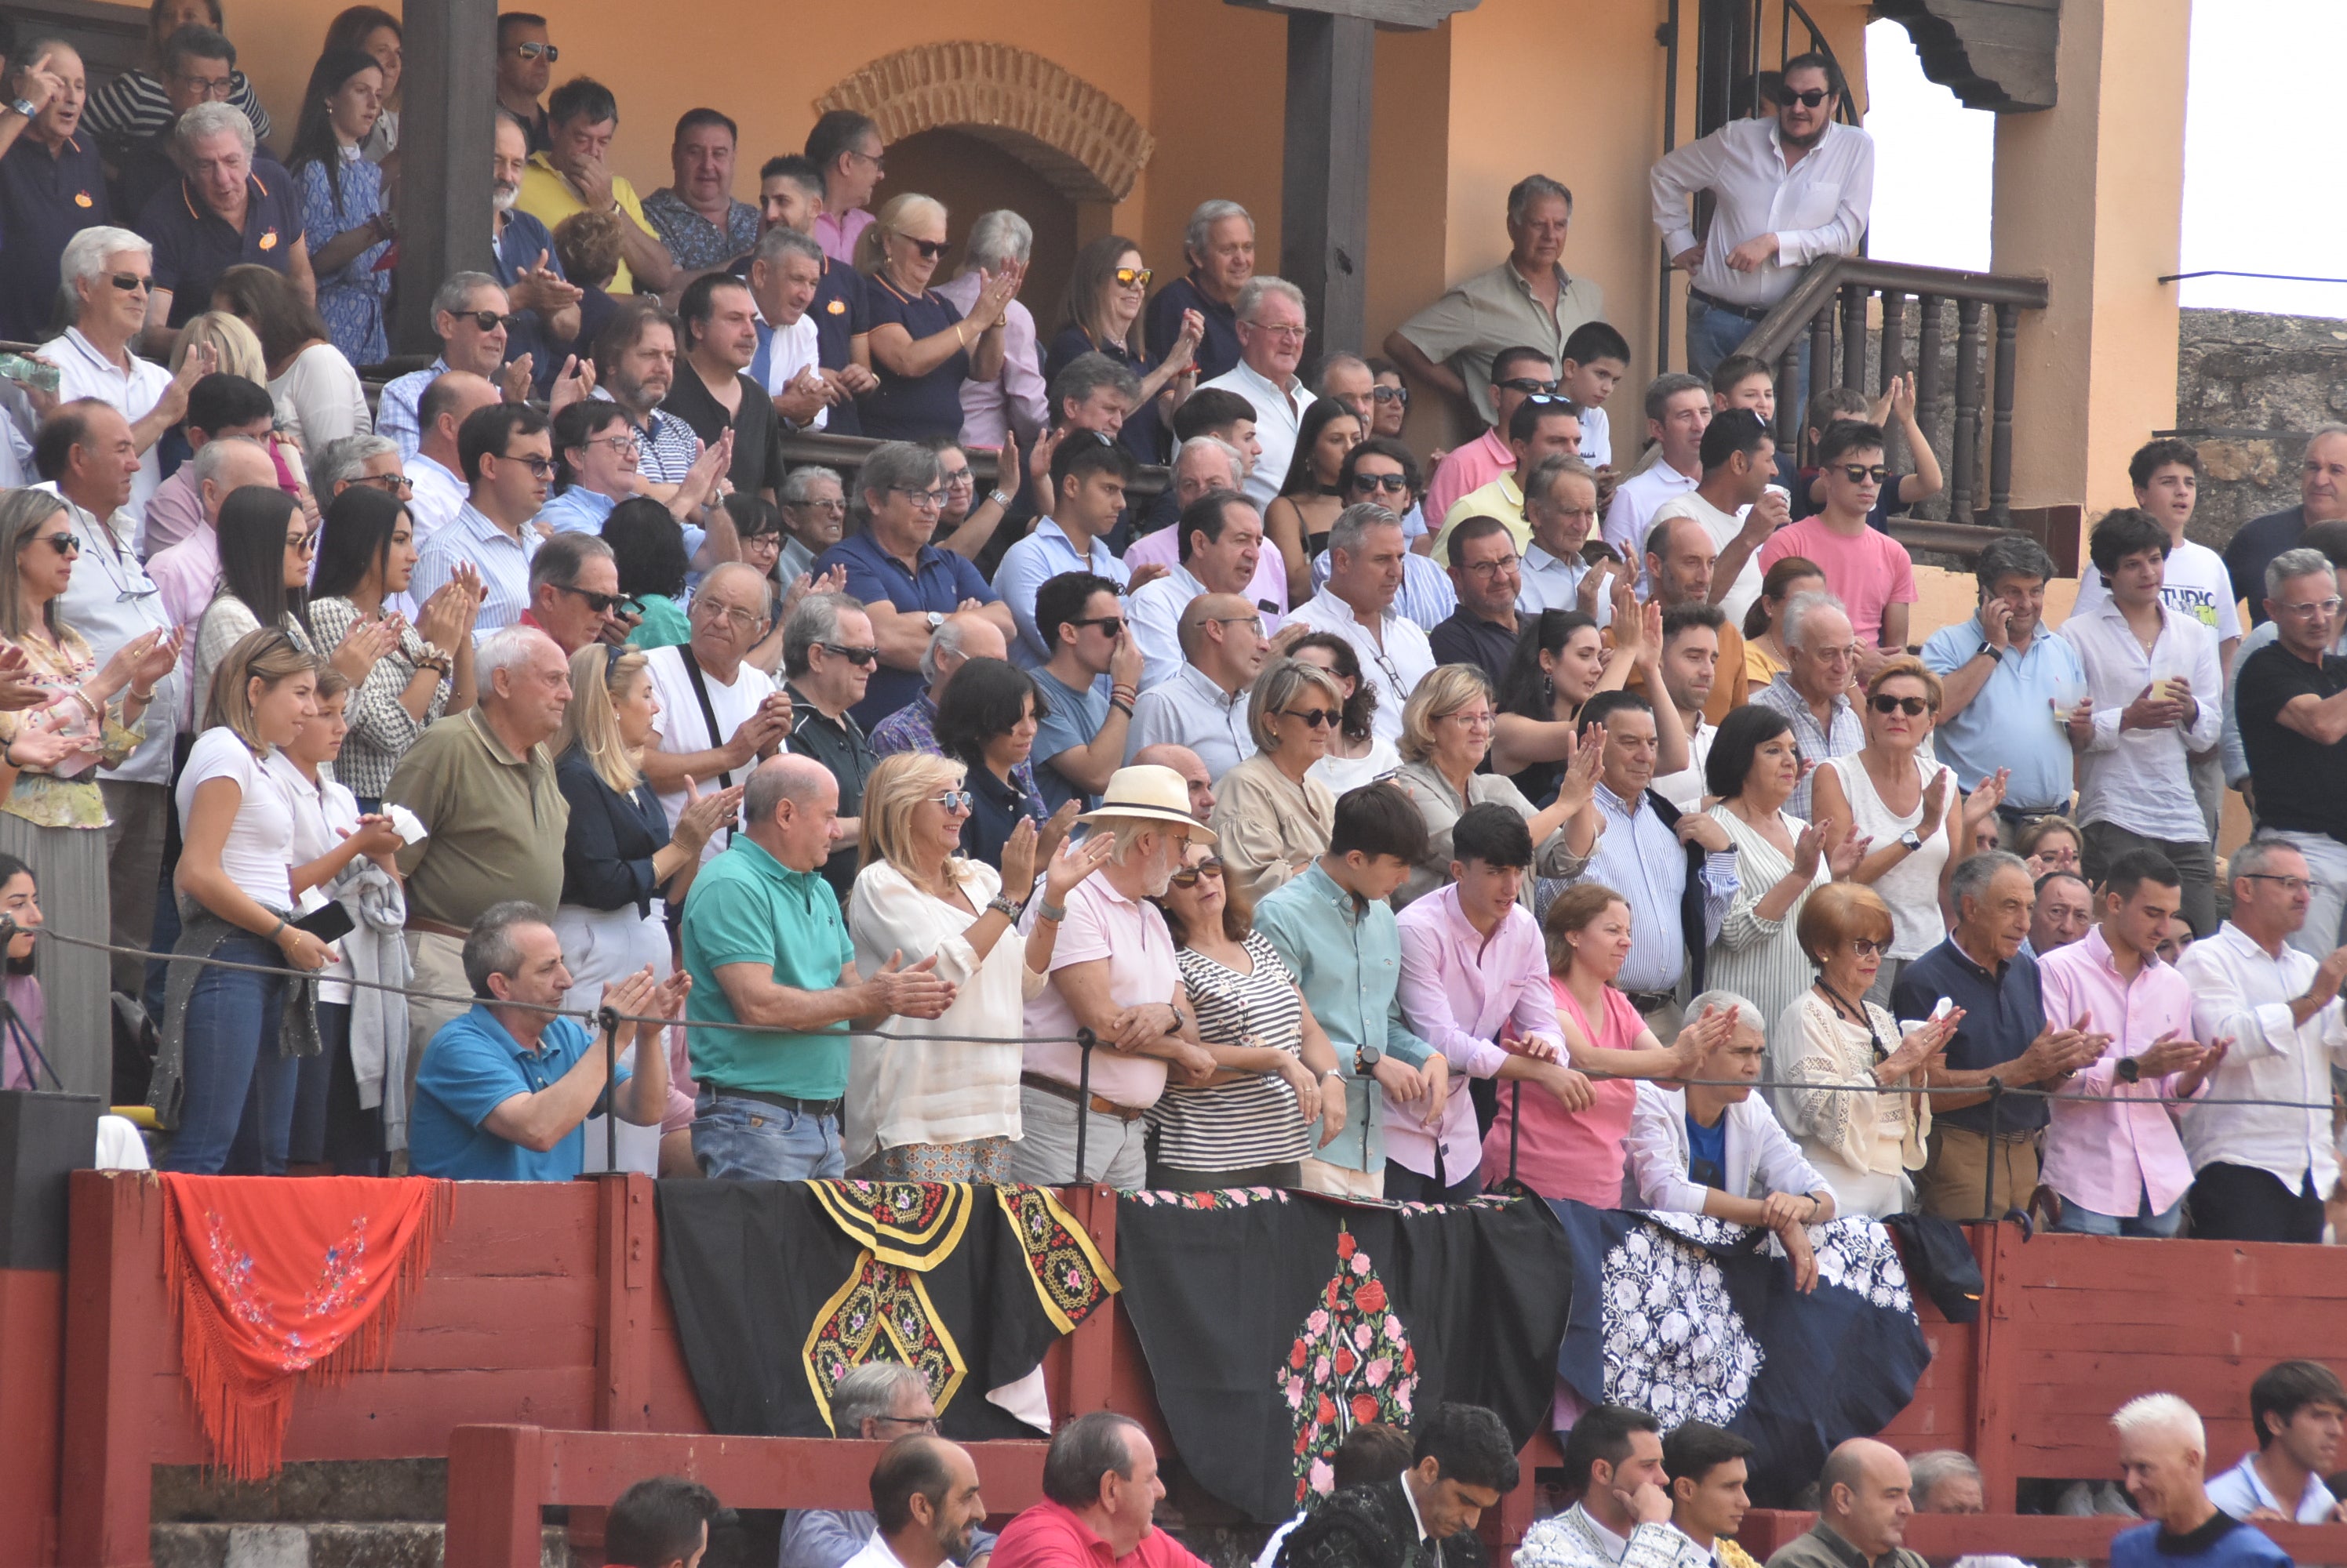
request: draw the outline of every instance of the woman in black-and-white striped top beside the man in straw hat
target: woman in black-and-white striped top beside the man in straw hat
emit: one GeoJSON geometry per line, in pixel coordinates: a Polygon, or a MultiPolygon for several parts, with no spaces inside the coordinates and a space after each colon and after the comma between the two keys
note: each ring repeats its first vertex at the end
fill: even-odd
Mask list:
{"type": "Polygon", "coordinates": [[[1190,845],[1157,908],[1218,1070],[1195,1089],[1166,1082],[1150,1108],[1150,1185],[1293,1188],[1303,1160],[1345,1131],[1345,1096],[1321,1094],[1335,1047],[1206,845],[1190,845]]]}

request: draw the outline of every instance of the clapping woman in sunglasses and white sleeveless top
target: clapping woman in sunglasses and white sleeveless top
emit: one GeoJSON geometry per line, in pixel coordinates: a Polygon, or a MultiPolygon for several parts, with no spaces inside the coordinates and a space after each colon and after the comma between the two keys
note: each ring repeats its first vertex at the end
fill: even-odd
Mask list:
{"type": "Polygon", "coordinates": [[[1899,967],[1936,948],[1948,934],[1943,918],[1948,873],[1964,859],[1971,826],[1995,810],[1995,779],[1964,800],[1955,772],[1925,761],[1925,742],[1939,716],[1939,676],[1922,660],[1901,655],[1866,683],[1866,744],[1849,756],[1819,763],[1810,786],[1817,822],[1849,824],[1873,840],[1849,878],[1882,894],[1896,930],[1873,981],[1873,1000],[1889,1002],[1899,967]],[[1981,803],[1981,805],[1974,805],[1981,803]]]}

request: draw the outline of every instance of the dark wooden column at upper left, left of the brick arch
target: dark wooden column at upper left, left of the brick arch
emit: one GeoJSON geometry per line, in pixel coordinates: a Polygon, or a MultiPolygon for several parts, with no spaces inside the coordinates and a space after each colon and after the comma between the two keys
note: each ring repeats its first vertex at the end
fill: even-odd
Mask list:
{"type": "Polygon", "coordinates": [[[437,354],[432,293],[451,272],[491,270],[491,178],[498,101],[495,0],[439,0],[406,19],[406,106],[399,113],[399,319],[394,354],[437,354]]]}

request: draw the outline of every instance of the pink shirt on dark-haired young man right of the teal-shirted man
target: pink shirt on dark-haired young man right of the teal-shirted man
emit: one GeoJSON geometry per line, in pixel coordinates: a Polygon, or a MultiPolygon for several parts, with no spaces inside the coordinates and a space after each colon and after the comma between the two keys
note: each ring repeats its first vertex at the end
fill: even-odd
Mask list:
{"type": "Polygon", "coordinates": [[[1450,1099],[1441,1127],[1427,1131],[1425,1120],[1387,1091],[1385,1157],[1434,1176],[1439,1145],[1448,1185],[1465,1181],[1481,1160],[1474,1101],[1462,1080],[1500,1070],[1509,1056],[1497,1045],[1502,1033],[1565,1042],[1549,991],[1549,953],[1540,922],[1521,904],[1509,906],[1486,941],[1460,911],[1457,883],[1415,899],[1394,925],[1401,934],[1401,1019],[1450,1063],[1450,1099]]]}

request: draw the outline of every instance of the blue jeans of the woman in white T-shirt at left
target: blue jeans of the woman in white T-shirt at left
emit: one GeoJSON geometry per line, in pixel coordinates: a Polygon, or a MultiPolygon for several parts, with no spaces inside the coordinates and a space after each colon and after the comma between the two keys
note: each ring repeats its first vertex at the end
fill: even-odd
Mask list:
{"type": "MultiPolygon", "coordinates": [[[[214,958],[282,965],[275,941],[235,937],[214,958]]],[[[204,969],[188,998],[185,1099],[162,1169],[197,1176],[284,1176],[293,1138],[300,1061],[277,1054],[284,981],[275,974],[204,969]]]]}

